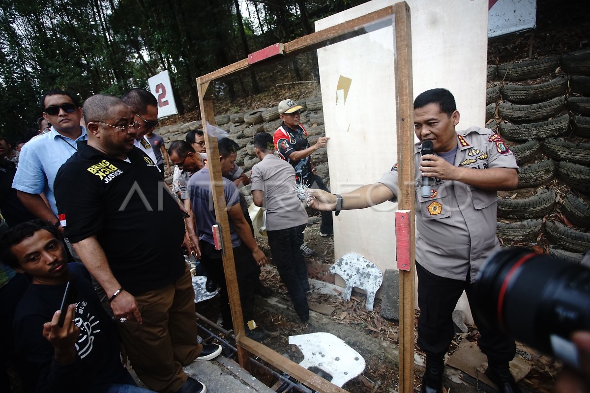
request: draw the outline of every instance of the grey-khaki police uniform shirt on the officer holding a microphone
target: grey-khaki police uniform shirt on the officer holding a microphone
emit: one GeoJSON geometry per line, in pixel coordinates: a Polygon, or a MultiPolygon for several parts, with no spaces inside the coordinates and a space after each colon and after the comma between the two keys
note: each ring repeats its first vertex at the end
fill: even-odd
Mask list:
{"type": "MultiPolygon", "coordinates": [[[[471,127],[457,133],[455,166],[518,169],[514,154],[498,134],[471,127]]],[[[421,144],[414,147],[416,164],[416,261],[437,276],[473,282],[481,265],[499,246],[496,237],[497,192],[460,181],[435,179],[429,198],[421,196],[421,144]]],[[[398,164],[384,174],[385,184],[397,196],[398,164]]]]}

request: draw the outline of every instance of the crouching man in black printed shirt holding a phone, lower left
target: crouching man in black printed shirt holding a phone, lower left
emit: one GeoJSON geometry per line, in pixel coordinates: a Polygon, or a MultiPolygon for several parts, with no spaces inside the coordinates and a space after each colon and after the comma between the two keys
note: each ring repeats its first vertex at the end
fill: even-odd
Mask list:
{"type": "Polygon", "coordinates": [[[2,236],[0,250],[2,262],[31,277],[15,312],[14,332],[36,392],[149,392],[138,388],[121,364],[112,321],[84,266],[68,265],[57,228],[40,219],[18,224],[2,236]],[[67,282],[70,306],[60,327],[67,282]]]}

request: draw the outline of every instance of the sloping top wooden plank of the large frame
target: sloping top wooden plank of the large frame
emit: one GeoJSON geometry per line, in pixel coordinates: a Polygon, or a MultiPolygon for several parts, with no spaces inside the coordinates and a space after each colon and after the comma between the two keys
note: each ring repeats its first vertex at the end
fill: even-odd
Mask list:
{"type": "MultiPolygon", "coordinates": [[[[404,3],[405,4],[405,3],[404,3]]],[[[369,14],[359,16],[359,18],[351,19],[350,21],[343,22],[336,26],[318,31],[312,34],[305,35],[301,38],[294,39],[291,42],[284,44],[285,55],[296,55],[303,50],[309,50],[314,45],[324,44],[330,39],[339,37],[340,35],[354,31],[358,28],[362,28],[371,22],[378,21],[379,19],[391,16],[393,10],[391,7],[385,7],[378,11],[371,12],[369,14]]],[[[202,75],[197,78],[201,83],[210,82],[221,77],[227,77],[228,75],[234,74],[235,72],[244,70],[248,67],[248,59],[240,60],[234,64],[227,65],[226,67],[219,68],[219,70],[209,72],[209,74],[202,75]]]]}

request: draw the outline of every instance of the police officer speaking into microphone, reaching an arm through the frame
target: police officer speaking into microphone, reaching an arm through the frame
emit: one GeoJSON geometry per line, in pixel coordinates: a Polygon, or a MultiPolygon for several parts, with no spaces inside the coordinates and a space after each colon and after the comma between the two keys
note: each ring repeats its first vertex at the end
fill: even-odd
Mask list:
{"type": "MultiPolygon", "coordinates": [[[[497,190],[518,186],[517,165],[502,138],[486,128],[456,131],[459,113],[450,91],[425,91],[414,101],[416,163],[416,270],[418,273],[418,345],[425,352],[422,392],[442,392],[444,355],[453,339],[451,317],[457,300],[467,292],[486,257],[499,246],[496,238],[497,190]],[[431,140],[435,154],[421,155],[431,140]],[[421,177],[433,181],[422,197],[421,177]]],[[[310,206],[319,210],[363,209],[398,194],[398,164],[378,183],[342,196],[313,190],[310,206]]],[[[477,323],[476,318],[476,323],[477,323]]],[[[500,392],[519,392],[510,374],[516,354],[514,339],[477,323],[478,344],[488,356],[487,374],[500,392]]]]}

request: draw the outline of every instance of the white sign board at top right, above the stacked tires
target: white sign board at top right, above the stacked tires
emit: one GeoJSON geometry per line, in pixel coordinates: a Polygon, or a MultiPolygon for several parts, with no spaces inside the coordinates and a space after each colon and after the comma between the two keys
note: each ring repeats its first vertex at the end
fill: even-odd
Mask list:
{"type": "Polygon", "coordinates": [[[537,0],[489,0],[487,37],[533,29],[536,15],[537,0]]]}

